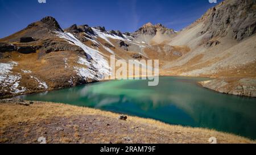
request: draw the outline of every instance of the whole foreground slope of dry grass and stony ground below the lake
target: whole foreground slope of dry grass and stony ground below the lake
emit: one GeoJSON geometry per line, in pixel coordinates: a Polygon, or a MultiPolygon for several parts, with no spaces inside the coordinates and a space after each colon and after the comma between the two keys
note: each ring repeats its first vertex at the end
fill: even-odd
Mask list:
{"type": "MultiPolygon", "coordinates": [[[[0,101],[1,103],[2,101],[0,101]]],[[[92,108],[46,102],[23,106],[16,101],[0,104],[0,143],[255,143],[243,137],[209,129],[168,125],[152,119],[92,108]],[[127,138],[129,137],[129,138],[127,138]]]]}

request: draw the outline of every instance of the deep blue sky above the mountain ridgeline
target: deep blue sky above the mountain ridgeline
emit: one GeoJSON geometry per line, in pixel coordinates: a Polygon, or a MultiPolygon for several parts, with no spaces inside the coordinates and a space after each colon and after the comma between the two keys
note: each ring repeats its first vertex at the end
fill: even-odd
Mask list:
{"type": "Polygon", "coordinates": [[[76,23],[134,32],[151,22],[179,31],[214,5],[208,0],[0,0],[0,38],[44,16],[56,18],[62,28],[76,23]]]}

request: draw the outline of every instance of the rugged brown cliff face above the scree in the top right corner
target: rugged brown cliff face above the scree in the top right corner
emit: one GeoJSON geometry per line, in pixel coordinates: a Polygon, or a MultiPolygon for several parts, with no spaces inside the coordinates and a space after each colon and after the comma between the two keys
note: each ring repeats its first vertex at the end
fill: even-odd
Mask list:
{"type": "Polygon", "coordinates": [[[256,1],[224,1],[213,7],[202,17],[205,19],[205,30],[209,38],[226,36],[232,32],[236,40],[242,40],[256,31],[256,1]]]}

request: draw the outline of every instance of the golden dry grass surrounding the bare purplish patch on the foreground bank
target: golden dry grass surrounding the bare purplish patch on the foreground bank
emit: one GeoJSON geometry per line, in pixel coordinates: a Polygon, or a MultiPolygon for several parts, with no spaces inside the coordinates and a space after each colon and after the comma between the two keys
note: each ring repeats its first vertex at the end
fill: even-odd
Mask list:
{"type": "MultiPolygon", "coordinates": [[[[255,143],[255,141],[240,136],[210,129],[169,125],[156,120],[143,119],[135,116],[128,116],[128,120],[125,122],[118,120],[118,116],[119,114],[112,112],[67,104],[35,102],[35,104],[31,104],[30,106],[22,106],[13,103],[3,103],[0,104],[0,143],[8,141],[8,137],[5,137],[5,129],[12,125],[20,122],[30,124],[26,126],[28,131],[24,135],[29,136],[30,126],[34,127],[33,124],[40,122],[51,124],[54,122],[53,118],[56,117],[69,119],[73,117],[77,117],[78,119],[88,118],[89,121],[98,123],[97,125],[100,125],[100,129],[96,128],[95,124],[92,124],[92,127],[94,127],[93,131],[89,131],[89,125],[89,128],[83,129],[81,132],[79,131],[80,126],[74,124],[76,122],[75,119],[71,119],[70,122],[73,123],[72,136],[70,137],[62,133],[58,139],[58,135],[56,135],[57,140],[54,143],[109,143],[109,141],[113,143],[126,143],[126,141],[122,140],[123,137],[133,139],[129,143],[209,143],[209,137],[216,137],[218,143],[255,143]],[[110,131],[105,126],[105,123],[109,121],[114,126],[110,131]],[[121,128],[121,132],[118,132],[119,128],[121,128]],[[75,141],[73,141],[74,139],[75,141]]],[[[43,129],[38,129],[37,131],[40,130],[43,129]]],[[[13,135],[13,137],[15,136],[13,135]]]]}

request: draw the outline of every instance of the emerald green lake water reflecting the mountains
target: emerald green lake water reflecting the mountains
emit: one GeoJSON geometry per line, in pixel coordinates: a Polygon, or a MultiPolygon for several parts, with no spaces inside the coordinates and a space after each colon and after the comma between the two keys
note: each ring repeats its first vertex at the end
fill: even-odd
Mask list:
{"type": "Polygon", "coordinates": [[[148,81],[108,81],[27,95],[42,100],[203,127],[256,139],[256,99],[226,95],[196,84],[208,78],[160,77],[148,81]]]}

